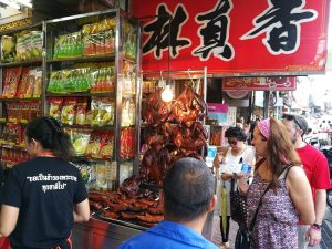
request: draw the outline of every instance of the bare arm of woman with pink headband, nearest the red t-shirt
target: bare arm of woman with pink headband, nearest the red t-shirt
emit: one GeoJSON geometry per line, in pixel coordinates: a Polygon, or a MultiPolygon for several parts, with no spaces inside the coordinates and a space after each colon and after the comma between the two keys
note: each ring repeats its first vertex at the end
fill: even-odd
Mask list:
{"type": "Polygon", "coordinates": [[[303,168],[291,167],[287,176],[287,186],[302,224],[314,222],[314,208],[311,187],[303,168]]]}

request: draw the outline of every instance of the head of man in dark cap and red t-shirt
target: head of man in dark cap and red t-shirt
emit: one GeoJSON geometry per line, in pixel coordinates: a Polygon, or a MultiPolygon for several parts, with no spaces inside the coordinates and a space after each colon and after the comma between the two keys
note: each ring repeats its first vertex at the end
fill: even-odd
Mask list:
{"type": "Polygon", "coordinates": [[[282,123],[284,124],[292,143],[300,143],[308,131],[305,118],[295,114],[284,114],[282,116],[282,123]]]}

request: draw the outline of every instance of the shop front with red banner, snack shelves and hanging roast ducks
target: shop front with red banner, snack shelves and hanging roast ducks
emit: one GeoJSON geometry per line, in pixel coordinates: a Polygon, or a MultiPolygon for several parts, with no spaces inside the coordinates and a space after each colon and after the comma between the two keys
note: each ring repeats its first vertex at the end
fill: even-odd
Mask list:
{"type": "Polygon", "coordinates": [[[260,0],[250,11],[230,0],[120,2],[0,33],[1,163],[29,159],[29,121],[62,122],[90,193],[91,219],[72,236],[81,249],[116,248],[164,219],[166,172],[185,156],[205,159],[236,124],[226,94],[252,114],[255,91],[268,91],[269,116],[281,112],[273,93],[325,71],[326,0],[260,0]]]}

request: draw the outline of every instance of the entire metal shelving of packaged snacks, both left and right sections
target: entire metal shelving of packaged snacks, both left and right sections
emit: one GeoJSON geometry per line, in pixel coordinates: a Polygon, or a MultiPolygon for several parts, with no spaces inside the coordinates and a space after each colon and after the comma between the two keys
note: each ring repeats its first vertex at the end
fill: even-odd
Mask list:
{"type": "MultiPolygon", "coordinates": [[[[70,134],[73,160],[93,164],[97,173],[91,170],[91,176],[112,181],[100,190],[113,190],[128,178],[138,158],[138,22],[114,9],[0,35],[0,148],[24,151],[24,125],[51,116],[70,134]],[[112,177],[97,169],[108,163],[115,165],[112,177]]],[[[96,184],[87,187],[98,189],[96,184]]]]}

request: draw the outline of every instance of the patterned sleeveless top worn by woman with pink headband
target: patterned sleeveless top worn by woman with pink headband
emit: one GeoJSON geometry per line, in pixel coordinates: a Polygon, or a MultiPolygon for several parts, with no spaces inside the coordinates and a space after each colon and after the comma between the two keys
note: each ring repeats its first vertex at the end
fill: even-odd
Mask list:
{"type": "MultiPolygon", "coordinates": [[[[253,218],[260,196],[269,185],[257,173],[247,194],[248,227],[253,218]]],[[[279,178],[277,195],[269,189],[262,198],[252,231],[251,249],[293,249],[298,248],[297,222],[299,220],[294,205],[289,196],[284,174],[279,178]]]]}

